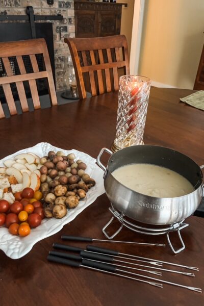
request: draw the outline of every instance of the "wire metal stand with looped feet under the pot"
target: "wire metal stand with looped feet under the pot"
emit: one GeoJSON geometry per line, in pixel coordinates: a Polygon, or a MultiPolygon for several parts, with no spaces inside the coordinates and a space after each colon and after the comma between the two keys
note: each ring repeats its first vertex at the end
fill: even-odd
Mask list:
{"type": "Polygon", "coordinates": [[[173,251],[173,253],[175,253],[175,254],[180,253],[181,251],[183,251],[185,249],[185,244],[184,244],[184,241],[182,239],[180,231],[183,230],[183,228],[187,227],[189,224],[188,223],[183,223],[184,220],[182,220],[180,222],[172,223],[170,226],[163,227],[163,228],[152,228],[152,227],[150,228],[150,227],[145,227],[145,226],[138,225],[136,223],[136,221],[134,221],[134,223],[133,223],[133,222],[130,222],[129,220],[125,219],[125,215],[123,213],[118,212],[115,208],[113,208],[112,203],[111,203],[111,207],[109,207],[109,210],[113,214],[113,217],[103,227],[103,230],[102,230],[104,235],[108,239],[113,239],[122,230],[122,227],[125,226],[125,227],[129,228],[129,230],[131,230],[131,231],[134,231],[134,232],[140,233],[140,234],[145,234],[145,235],[164,235],[164,234],[166,234],[168,244],[169,244],[171,250],[173,251]],[[121,226],[112,236],[109,236],[106,232],[106,228],[112,223],[114,218],[116,218],[121,223],[121,226]],[[181,248],[175,249],[173,247],[173,245],[171,243],[171,240],[170,240],[170,237],[169,237],[169,233],[171,233],[171,232],[177,232],[177,234],[179,236],[179,239],[181,241],[181,244],[182,244],[181,248]]]}

